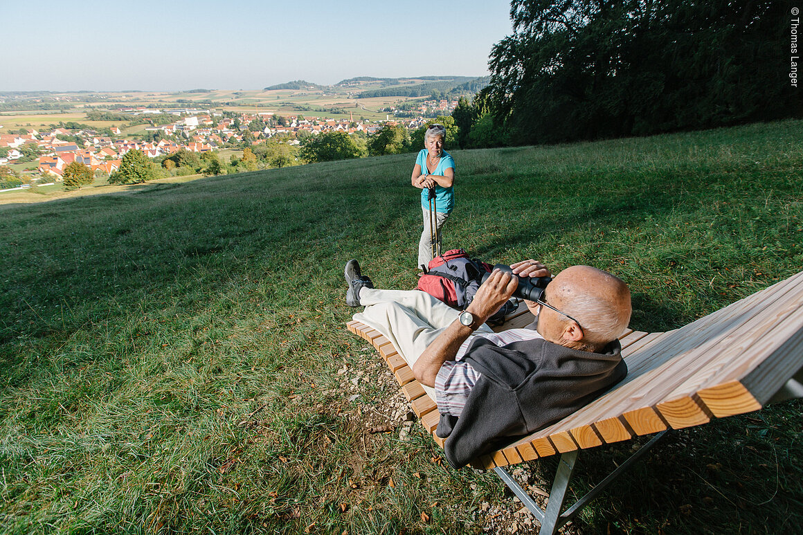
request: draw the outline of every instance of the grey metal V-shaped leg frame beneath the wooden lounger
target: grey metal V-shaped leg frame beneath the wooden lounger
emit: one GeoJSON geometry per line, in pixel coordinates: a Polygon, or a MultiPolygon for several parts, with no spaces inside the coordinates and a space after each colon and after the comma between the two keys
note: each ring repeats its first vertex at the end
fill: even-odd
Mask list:
{"type": "Polygon", "coordinates": [[[527,491],[525,491],[524,488],[521,488],[520,484],[516,483],[516,480],[513,480],[512,476],[509,472],[507,472],[507,470],[497,467],[494,468],[494,472],[496,472],[496,474],[499,476],[499,479],[503,480],[504,484],[506,484],[507,487],[519,497],[521,503],[523,503],[532,512],[532,514],[535,515],[536,519],[538,519],[541,525],[539,533],[548,533],[549,535],[553,535],[558,529],[560,529],[560,526],[564,525],[568,521],[571,521],[586,505],[589,504],[591,500],[596,498],[605,490],[605,488],[608,488],[608,486],[613,483],[613,480],[622,475],[623,472],[626,472],[626,470],[636,463],[638,459],[641,459],[641,457],[646,454],[647,451],[650,451],[650,448],[653,447],[663,435],[666,435],[666,431],[661,431],[658,433],[658,435],[655,435],[652,439],[650,439],[650,442],[638,448],[638,451],[636,451],[633,455],[630,455],[630,457],[624,463],[620,464],[615,470],[613,470],[613,472],[610,472],[604,480],[592,488],[588,494],[583,496],[580,500],[577,500],[575,504],[566,509],[562,514],[560,513],[560,509],[563,508],[563,504],[566,500],[566,491],[569,489],[569,482],[572,480],[574,464],[577,461],[577,450],[569,451],[569,453],[560,455],[560,464],[558,464],[555,480],[552,482],[552,490],[549,492],[549,496],[547,498],[546,511],[536,504],[535,500],[532,499],[527,491]]]}

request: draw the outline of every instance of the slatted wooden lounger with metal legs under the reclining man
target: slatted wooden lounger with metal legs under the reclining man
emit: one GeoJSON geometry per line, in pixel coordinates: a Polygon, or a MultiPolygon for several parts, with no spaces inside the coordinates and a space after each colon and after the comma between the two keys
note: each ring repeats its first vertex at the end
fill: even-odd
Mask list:
{"type": "MultiPolygon", "coordinates": [[[[522,305],[501,329],[527,325],[522,305]]],[[[395,374],[426,431],[434,435],[438,410],[413,377],[406,361],[380,333],[357,321],[348,328],[369,341],[395,374]]],[[[666,333],[628,330],[620,338],[627,377],[607,394],[560,422],[502,450],[472,461],[494,469],[541,523],[555,533],[666,432],[740,415],[769,402],[803,397],[803,272],[706,317],[666,333]],[[577,452],[604,443],[658,433],[633,457],[560,513],[577,452]],[[546,511],[503,468],[525,460],[562,454],[546,511]]]]}

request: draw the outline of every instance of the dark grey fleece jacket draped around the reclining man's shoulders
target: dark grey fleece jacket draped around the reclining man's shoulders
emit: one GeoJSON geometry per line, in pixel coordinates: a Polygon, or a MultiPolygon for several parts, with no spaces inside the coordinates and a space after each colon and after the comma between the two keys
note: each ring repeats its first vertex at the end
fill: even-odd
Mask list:
{"type": "Polygon", "coordinates": [[[463,361],[482,377],[460,417],[438,423],[454,468],[571,415],[627,374],[618,340],[590,353],[540,338],[499,347],[477,337],[463,361]]]}

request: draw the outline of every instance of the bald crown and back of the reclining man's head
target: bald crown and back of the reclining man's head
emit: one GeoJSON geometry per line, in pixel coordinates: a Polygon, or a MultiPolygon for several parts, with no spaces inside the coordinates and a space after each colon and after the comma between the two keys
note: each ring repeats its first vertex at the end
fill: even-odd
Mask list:
{"type": "Polygon", "coordinates": [[[581,345],[589,349],[615,340],[630,323],[627,284],[596,267],[567,267],[549,283],[546,294],[549,304],[580,322],[581,345]]]}

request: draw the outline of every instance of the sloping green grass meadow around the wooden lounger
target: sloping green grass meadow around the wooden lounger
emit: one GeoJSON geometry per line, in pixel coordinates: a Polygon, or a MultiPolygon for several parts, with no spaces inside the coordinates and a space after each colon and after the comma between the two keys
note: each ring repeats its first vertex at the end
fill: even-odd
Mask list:
{"type": "MultiPolygon", "coordinates": [[[[444,245],[601,267],[630,283],[635,328],[673,329],[801,269],[801,137],[784,121],[450,151],[444,245]]],[[[412,158],[6,207],[0,532],[482,533],[483,501],[517,510],[493,477],[439,464],[418,424],[399,439],[397,389],[344,330],[348,259],[414,287],[412,158]]],[[[792,531],[800,413],[675,432],[569,533],[792,531]]],[[[581,455],[573,489],[631,445],[581,455]]]]}

